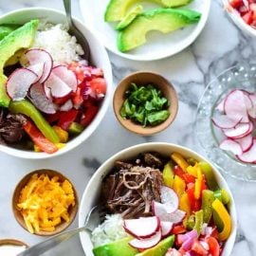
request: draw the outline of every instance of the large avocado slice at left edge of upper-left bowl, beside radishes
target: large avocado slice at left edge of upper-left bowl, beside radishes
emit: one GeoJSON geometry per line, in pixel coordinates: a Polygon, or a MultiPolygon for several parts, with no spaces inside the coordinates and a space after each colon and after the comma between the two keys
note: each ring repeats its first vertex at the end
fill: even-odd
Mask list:
{"type": "Polygon", "coordinates": [[[10,101],[5,87],[7,77],[4,75],[4,66],[17,50],[32,45],[38,24],[39,20],[31,20],[0,41],[0,106],[8,107],[10,101]]]}

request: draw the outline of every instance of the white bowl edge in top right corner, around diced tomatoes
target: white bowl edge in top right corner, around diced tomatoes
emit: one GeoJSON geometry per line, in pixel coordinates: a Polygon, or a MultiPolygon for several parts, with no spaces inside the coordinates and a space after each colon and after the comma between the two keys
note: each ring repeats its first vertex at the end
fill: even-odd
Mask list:
{"type": "Polygon", "coordinates": [[[222,0],[222,1],[224,4],[224,8],[227,10],[230,18],[233,20],[236,26],[239,27],[242,31],[245,31],[248,35],[256,36],[256,29],[247,25],[247,23],[239,15],[238,11],[236,9],[233,9],[229,5],[229,0],[222,0]]]}

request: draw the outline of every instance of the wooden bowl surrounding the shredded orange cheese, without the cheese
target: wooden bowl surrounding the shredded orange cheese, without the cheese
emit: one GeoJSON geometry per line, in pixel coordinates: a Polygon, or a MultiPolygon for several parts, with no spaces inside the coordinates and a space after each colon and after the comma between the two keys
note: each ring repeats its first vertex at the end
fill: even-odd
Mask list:
{"type": "MultiPolygon", "coordinates": [[[[30,174],[27,174],[26,176],[24,176],[21,181],[18,183],[18,185],[16,186],[13,195],[12,195],[12,211],[14,214],[14,217],[16,218],[17,222],[21,225],[22,228],[27,230],[27,226],[25,224],[23,215],[21,213],[21,211],[18,209],[17,204],[19,201],[19,196],[20,196],[20,192],[22,191],[22,189],[27,185],[28,180],[30,179],[30,177],[33,174],[47,174],[49,177],[53,177],[53,176],[59,176],[60,177],[60,181],[64,181],[65,179],[67,181],[70,182],[70,184],[72,185],[73,191],[74,191],[74,195],[75,195],[75,206],[74,207],[70,207],[69,211],[69,218],[70,221],[69,222],[62,222],[61,224],[59,224],[58,226],[55,227],[55,230],[52,232],[47,232],[47,231],[39,231],[39,232],[34,232],[34,234],[37,235],[42,235],[42,236],[47,236],[47,235],[54,235],[57,233],[62,232],[64,229],[66,229],[75,219],[77,211],[78,211],[78,204],[79,204],[79,200],[78,200],[78,194],[72,184],[72,182],[66,178],[63,174],[60,174],[56,171],[53,170],[48,170],[48,169],[41,169],[41,170],[36,170],[30,174]]],[[[28,230],[27,230],[28,231],[28,230]]]]}

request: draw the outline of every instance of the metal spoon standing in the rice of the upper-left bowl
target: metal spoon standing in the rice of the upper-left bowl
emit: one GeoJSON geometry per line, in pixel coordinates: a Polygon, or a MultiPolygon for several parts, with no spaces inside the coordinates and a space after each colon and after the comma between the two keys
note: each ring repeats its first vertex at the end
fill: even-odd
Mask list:
{"type": "Polygon", "coordinates": [[[64,10],[66,15],[66,21],[68,24],[68,32],[75,36],[78,43],[82,46],[83,49],[83,58],[90,64],[90,46],[88,44],[87,39],[83,36],[82,32],[75,26],[74,21],[71,16],[71,1],[63,0],[64,2],[64,10]]]}

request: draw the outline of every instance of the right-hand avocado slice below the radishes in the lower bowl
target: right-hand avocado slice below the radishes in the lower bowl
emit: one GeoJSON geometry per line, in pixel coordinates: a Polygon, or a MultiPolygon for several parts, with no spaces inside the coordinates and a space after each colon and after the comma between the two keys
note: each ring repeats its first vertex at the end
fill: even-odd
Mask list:
{"type": "Polygon", "coordinates": [[[155,247],[146,249],[138,254],[136,256],[164,256],[167,252],[167,250],[174,245],[174,235],[171,235],[164,240],[162,240],[160,243],[158,243],[155,247]]]}

